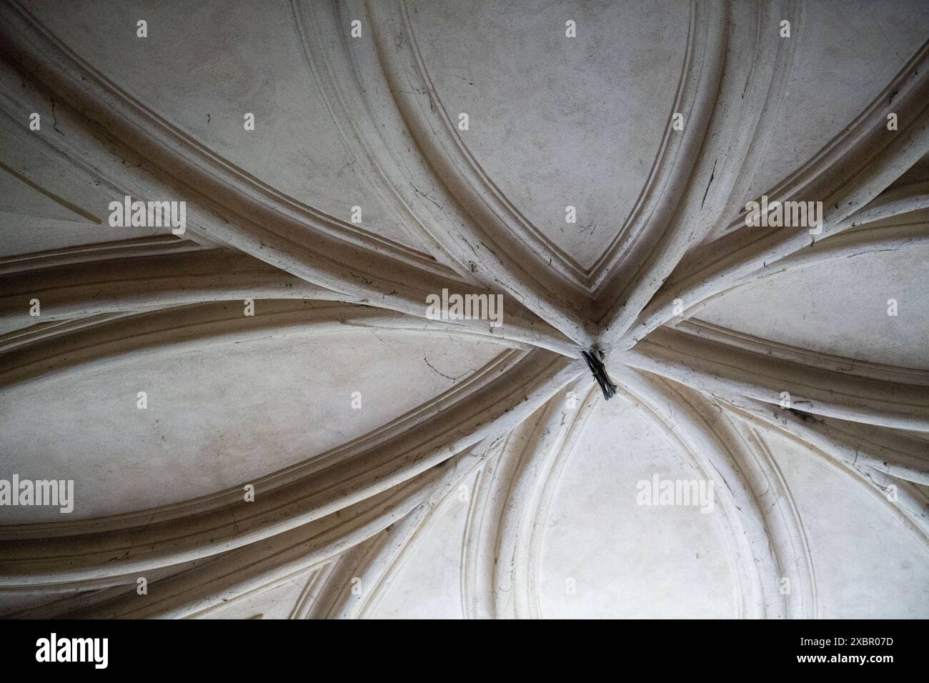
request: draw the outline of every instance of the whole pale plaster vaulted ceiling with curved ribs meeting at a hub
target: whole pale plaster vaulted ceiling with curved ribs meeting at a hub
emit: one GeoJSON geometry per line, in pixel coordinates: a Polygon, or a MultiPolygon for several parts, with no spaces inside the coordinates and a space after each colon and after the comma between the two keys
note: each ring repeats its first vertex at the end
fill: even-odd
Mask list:
{"type": "Polygon", "coordinates": [[[75,491],[0,615],[929,616],[922,0],[3,0],[0,57],[0,479],[75,491]]]}

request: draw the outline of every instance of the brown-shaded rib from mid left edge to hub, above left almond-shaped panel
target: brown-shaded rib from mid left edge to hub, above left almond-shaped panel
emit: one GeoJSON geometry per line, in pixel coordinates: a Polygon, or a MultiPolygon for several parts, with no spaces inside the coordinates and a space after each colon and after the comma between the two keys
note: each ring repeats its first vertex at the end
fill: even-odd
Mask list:
{"type": "MultiPolygon", "coordinates": [[[[466,291],[464,282],[452,285],[452,292],[466,291]]],[[[98,318],[106,322],[116,315],[142,313],[152,310],[173,309],[211,301],[236,302],[240,305],[246,298],[258,299],[301,299],[304,301],[341,301],[360,304],[344,294],[310,284],[285,271],[243,254],[227,250],[190,252],[177,256],[144,256],[103,261],[93,266],[81,264],[60,268],[40,269],[17,275],[0,277],[0,287],[6,292],[0,296],[0,331],[26,328],[16,334],[0,335],[0,352],[27,343],[45,340],[51,336],[66,334],[76,327],[89,326],[82,319],[98,318]],[[30,316],[33,298],[41,302],[41,315],[30,316]],[[37,324],[36,324],[37,323],[37,324]],[[29,327],[29,326],[32,327],[29,327]],[[33,335],[33,331],[37,334],[33,335]]],[[[476,296],[494,296],[489,292],[471,291],[476,296]]],[[[485,299],[491,301],[490,298],[485,299]]],[[[436,329],[449,329],[467,334],[509,339],[514,342],[527,340],[540,346],[557,350],[571,357],[578,350],[567,339],[549,328],[549,333],[538,327],[538,319],[514,305],[500,309],[499,327],[491,327],[488,321],[458,319],[439,324],[436,329]],[[553,336],[554,335],[554,336],[553,336]]],[[[261,309],[259,306],[258,309],[261,309]]],[[[348,307],[350,308],[350,307],[348,307]]],[[[348,309],[347,308],[347,309],[348,309]]],[[[357,306],[355,308],[358,308],[357,306]]],[[[387,319],[399,319],[397,313],[381,309],[382,314],[371,307],[370,315],[382,315],[387,319]]],[[[412,327],[423,329],[431,322],[421,316],[411,317],[412,327]]],[[[140,322],[144,327],[145,323],[140,322]]],[[[99,337],[97,343],[108,343],[99,337]]],[[[7,365],[15,364],[12,357],[7,365]]]]}

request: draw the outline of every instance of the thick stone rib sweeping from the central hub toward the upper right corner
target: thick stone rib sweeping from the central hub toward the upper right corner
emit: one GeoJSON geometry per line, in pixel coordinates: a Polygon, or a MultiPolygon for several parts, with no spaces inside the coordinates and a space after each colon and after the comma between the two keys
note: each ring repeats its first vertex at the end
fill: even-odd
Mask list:
{"type": "MultiPolygon", "coordinates": [[[[927,152],[929,42],[841,136],[768,194],[778,200],[821,201],[824,215],[818,238],[826,239],[851,228],[856,222],[854,215],[927,152]],[[883,125],[891,100],[896,111],[908,112],[898,131],[888,131],[883,125]]],[[[897,208],[883,207],[876,215],[897,208]]],[[[866,219],[867,213],[863,213],[861,219],[866,219]]],[[[744,214],[739,217],[743,220],[744,214]]],[[[675,299],[681,299],[685,308],[696,306],[817,241],[805,228],[740,227],[701,245],[678,264],[617,346],[631,348],[672,320],[675,299]]]]}

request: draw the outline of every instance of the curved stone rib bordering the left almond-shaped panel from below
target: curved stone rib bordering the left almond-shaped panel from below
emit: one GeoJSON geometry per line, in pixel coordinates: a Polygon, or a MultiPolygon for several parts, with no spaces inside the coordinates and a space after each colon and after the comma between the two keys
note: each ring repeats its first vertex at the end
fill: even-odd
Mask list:
{"type": "MultiPolygon", "coordinates": [[[[500,439],[552,394],[582,374],[579,361],[531,351],[459,401],[373,451],[330,453],[282,473],[280,485],[242,504],[241,491],[217,496],[212,511],[159,519],[141,528],[83,536],[61,525],[0,529],[0,586],[61,584],[137,574],[214,556],[294,530],[382,493],[484,439],[500,439]],[[237,498],[238,501],[236,500],[237,498]]],[[[87,522],[72,524],[76,529],[87,522]]],[[[105,526],[104,526],[105,528],[105,526]]]]}

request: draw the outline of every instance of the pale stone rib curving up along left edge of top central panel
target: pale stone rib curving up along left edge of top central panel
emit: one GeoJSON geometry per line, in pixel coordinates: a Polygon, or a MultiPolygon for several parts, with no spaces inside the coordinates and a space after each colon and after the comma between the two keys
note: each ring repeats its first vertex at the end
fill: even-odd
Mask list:
{"type": "Polygon", "coordinates": [[[455,261],[473,264],[471,269],[487,286],[502,287],[578,344],[590,346],[585,290],[549,267],[549,258],[556,256],[546,256],[550,250],[543,243],[527,244],[516,237],[534,229],[459,138],[425,70],[406,7],[389,0],[367,3],[364,9],[376,49],[360,50],[356,59],[366,59],[359,68],[383,77],[383,87],[365,89],[362,112],[391,112],[396,125],[382,129],[382,138],[406,162],[395,186],[410,185],[421,195],[416,204],[423,205],[422,198],[433,204],[432,236],[455,261]]]}

